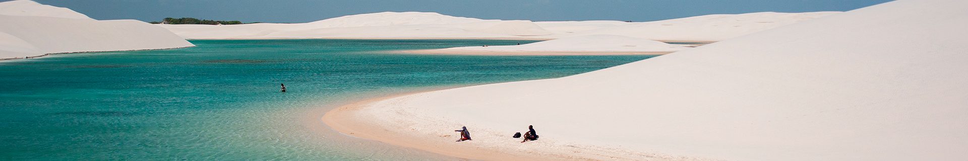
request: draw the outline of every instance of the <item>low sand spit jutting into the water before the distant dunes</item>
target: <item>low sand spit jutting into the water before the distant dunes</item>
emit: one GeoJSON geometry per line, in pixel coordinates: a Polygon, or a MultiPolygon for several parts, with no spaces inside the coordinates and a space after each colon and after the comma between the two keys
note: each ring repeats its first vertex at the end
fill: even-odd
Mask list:
{"type": "Polygon", "coordinates": [[[682,49],[686,49],[686,47],[657,40],[647,40],[615,35],[591,35],[563,38],[558,40],[545,40],[521,45],[452,47],[444,49],[409,51],[409,53],[490,54],[492,52],[499,52],[504,53],[504,55],[507,55],[508,53],[516,53],[519,55],[549,55],[555,53],[666,54],[682,49]]]}

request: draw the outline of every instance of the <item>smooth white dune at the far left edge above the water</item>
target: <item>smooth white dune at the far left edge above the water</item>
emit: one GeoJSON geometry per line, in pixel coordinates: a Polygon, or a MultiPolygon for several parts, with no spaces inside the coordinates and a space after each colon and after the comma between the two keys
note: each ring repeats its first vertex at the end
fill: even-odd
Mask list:
{"type": "Polygon", "coordinates": [[[0,59],[195,46],[145,22],[95,20],[27,0],[0,3],[0,21],[0,59]]]}

